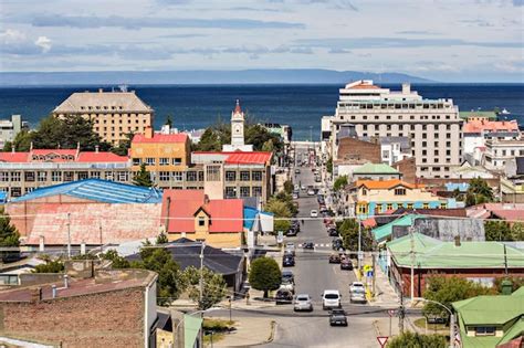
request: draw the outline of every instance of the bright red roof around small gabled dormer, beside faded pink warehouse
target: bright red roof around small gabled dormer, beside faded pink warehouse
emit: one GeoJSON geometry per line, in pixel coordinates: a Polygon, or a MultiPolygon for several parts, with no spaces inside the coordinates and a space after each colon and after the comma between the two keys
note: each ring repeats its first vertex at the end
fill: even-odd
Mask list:
{"type": "Polygon", "coordinates": [[[195,232],[195,214],[203,209],[210,217],[209,232],[242,232],[243,201],[241,199],[218,199],[206,202],[203,190],[164,190],[163,221],[167,218],[169,202],[168,232],[195,232]]]}

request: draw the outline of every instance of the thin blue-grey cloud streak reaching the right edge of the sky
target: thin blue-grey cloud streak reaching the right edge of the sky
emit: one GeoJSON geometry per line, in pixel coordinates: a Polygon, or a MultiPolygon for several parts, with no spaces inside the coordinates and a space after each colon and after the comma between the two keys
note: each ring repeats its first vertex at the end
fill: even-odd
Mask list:
{"type": "Polygon", "coordinates": [[[509,48],[521,49],[521,42],[484,42],[464,41],[461,39],[406,39],[406,38],[326,38],[300,39],[296,44],[326,49],[408,49],[408,48],[436,48],[436,46],[480,46],[480,48],[509,48]]]}

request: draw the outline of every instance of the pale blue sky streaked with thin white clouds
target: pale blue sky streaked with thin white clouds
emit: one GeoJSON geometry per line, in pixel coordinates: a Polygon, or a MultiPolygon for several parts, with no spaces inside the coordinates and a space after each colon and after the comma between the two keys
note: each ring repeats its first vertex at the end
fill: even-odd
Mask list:
{"type": "Polygon", "coordinates": [[[0,0],[0,72],[328,68],[524,82],[524,0],[0,0]]]}

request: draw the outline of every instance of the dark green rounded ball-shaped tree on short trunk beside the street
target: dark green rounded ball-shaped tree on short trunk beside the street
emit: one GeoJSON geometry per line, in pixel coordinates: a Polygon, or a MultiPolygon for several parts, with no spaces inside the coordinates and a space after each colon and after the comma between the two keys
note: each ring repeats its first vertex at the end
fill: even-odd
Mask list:
{"type": "Polygon", "coordinates": [[[251,263],[249,283],[255,289],[264,292],[264,298],[270,291],[275,291],[282,282],[282,272],[276,261],[270,257],[259,257],[251,263]]]}

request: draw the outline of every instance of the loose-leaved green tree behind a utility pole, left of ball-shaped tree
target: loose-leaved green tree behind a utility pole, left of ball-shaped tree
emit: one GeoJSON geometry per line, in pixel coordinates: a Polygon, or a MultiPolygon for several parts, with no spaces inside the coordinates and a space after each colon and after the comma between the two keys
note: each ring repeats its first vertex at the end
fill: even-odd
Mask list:
{"type": "Polygon", "coordinates": [[[221,274],[209,268],[202,270],[202,298],[200,299],[200,270],[189,266],[184,271],[184,281],[189,298],[198,304],[198,309],[206,310],[226,297],[227,284],[221,274]]]}

